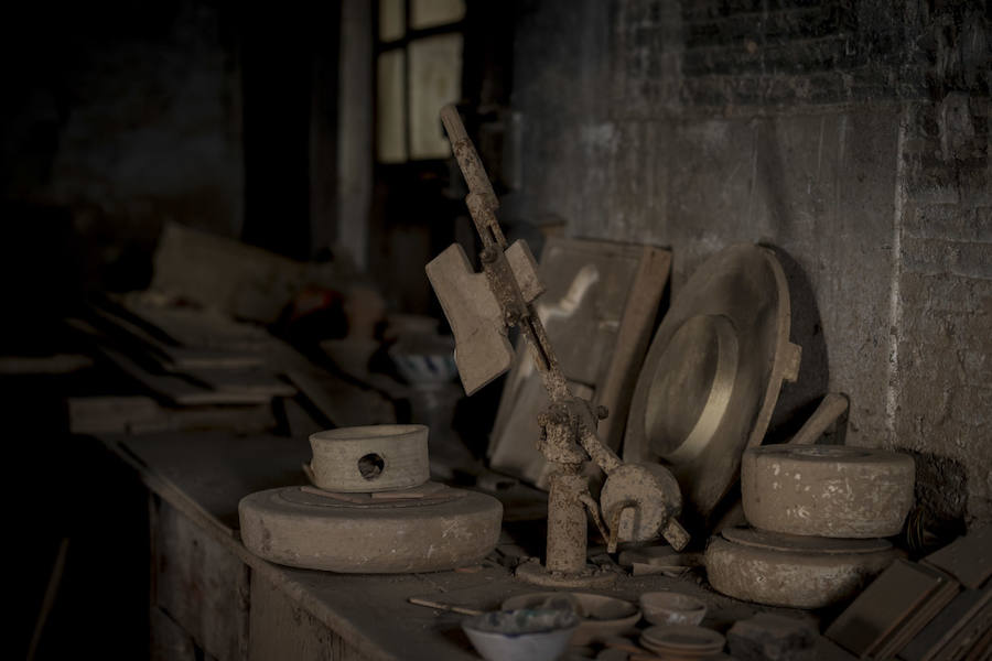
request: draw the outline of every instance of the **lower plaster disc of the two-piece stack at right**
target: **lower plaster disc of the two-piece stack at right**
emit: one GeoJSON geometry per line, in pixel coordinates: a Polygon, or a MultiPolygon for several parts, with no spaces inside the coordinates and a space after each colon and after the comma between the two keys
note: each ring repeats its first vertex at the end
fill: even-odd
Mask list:
{"type": "Polygon", "coordinates": [[[870,548],[865,540],[847,540],[851,552],[840,549],[841,540],[828,552],[817,552],[809,540],[791,545],[785,535],[747,538],[741,530],[724,535],[745,539],[738,543],[713,538],[707,546],[705,564],[710,584],[719,592],[745,602],[792,608],[822,608],[856,594],[895,559],[892,545],[870,548]],[[768,543],[766,543],[768,542],[768,543]]]}

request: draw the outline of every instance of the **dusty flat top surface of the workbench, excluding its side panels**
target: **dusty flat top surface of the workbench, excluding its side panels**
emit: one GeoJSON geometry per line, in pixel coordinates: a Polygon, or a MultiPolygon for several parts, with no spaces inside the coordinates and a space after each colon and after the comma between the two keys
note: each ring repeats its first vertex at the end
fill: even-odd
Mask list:
{"type": "MultiPolygon", "coordinates": [[[[149,489],[369,659],[476,658],[460,627],[464,616],[411,605],[410,597],[488,610],[509,596],[542,592],[493,562],[430,574],[333,574],[284,567],[254,555],[238,535],[238,501],[252,491],[305,484],[305,440],[223,433],[101,440],[139,472],[149,489]]],[[[713,626],[758,609],[664,576],[622,578],[616,587],[596,592],[636,602],[643,592],[676,585],[708,602],[713,626]]]]}

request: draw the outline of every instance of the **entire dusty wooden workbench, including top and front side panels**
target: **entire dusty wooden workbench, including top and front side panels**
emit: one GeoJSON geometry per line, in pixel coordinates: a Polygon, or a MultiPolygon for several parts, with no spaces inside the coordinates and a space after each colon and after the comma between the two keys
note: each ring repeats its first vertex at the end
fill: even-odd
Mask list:
{"type": "MultiPolygon", "coordinates": [[[[303,484],[305,441],[280,436],[172,433],[104,436],[150,491],[153,657],[226,659],[475,659],[464,616],[410,597],[477,609],[539,592],[498,563],[431,574],[332,574],[269,563],[238,537],[237,505],[260,489],[303,484]]],[[[694,592],[722,628],[756,608],[694,583],[622,578],[597,590],[630,600],[646,590],[694,592]]],[[[821,654],[823,659],[832,658],[821,654]]]]}

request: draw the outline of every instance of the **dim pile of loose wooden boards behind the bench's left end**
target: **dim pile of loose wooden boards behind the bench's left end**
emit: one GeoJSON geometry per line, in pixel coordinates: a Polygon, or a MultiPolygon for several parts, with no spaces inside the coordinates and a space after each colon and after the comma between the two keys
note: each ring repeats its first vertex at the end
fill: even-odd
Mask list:
{"type": "Polygon", "coordinates": [[[273,426],[273,400],[293,398],[298,390],[305,391],[321,426],[395,420],[384,397],[315,368],[263,327],[153,299],[147,294],[103,299],[84,318],[69,321],[154,400],[80,398],[72,409],[79,415],[77,431],[257,432],[273,426]],[[196,414],[180,414],[187,411],[196,414]],[[242,429],[245,421],[251,421],[248,429],[242,429]]]}

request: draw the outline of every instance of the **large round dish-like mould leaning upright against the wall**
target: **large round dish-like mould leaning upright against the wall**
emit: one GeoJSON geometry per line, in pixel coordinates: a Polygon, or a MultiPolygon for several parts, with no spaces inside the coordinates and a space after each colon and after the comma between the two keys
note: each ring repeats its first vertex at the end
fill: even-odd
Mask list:
{"type": "Polygon", "coordinates": [[[627,418],[624,459],[661,462],[684,509],[709,517],[761,443],[781,381],[798,372],[789,291],[775,254],[727,248],[689,279],[665,315],[627,418]]]}

